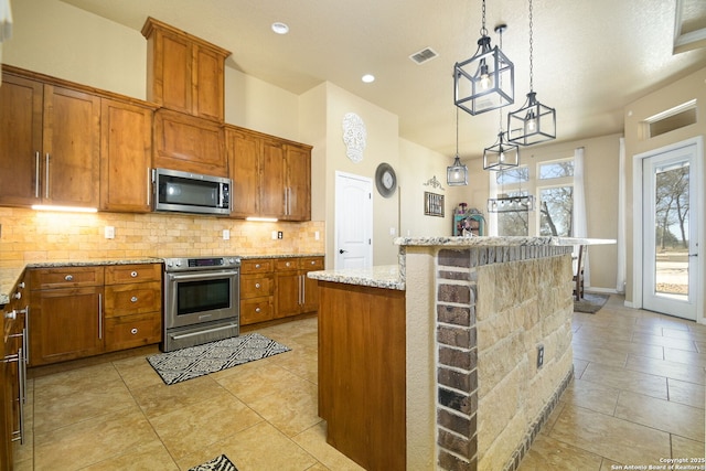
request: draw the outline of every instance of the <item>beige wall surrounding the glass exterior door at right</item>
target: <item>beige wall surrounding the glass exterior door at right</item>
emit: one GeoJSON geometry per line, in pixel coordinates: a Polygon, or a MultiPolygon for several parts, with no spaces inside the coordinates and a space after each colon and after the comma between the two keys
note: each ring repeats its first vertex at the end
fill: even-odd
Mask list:
{"type": "MultiPolygon", "coordinates": [[[[627,199],[627,212],[628,220],[625,226],[627,233],[627,289],[625,289],[625,300],[634,306],[642,306],[641,301],[638,299],[633,299],[633,295],[635,292],[635,286],[633,285],[633,269],[635,263],[634,253],[640,253],[641,247],[639,244],[634,244],[633,238],[640,238],[640,234],[642,232],[641,227],[635,227],[633,225],[633,210],[635,207],[639,208],[639,202],[634,201],[633,197],[633,188],[634,185],[641,184],[639,181],[635,181],[635,174],[633,173],[633,165],[635,163],[635,156],[639,156],[644,152],[649,152],[652,150],[661,149],[667,146],[675,144],[677,142],[685,141],[687,139],[693,139],[703,137],[706,135],[706,68],[702,68],[695,73],[686,75],[673,83],[666,85],[665,87],[651,93],[633,103],[628,105],[624,108],[624,119],[625,119],[625,199],[627,199]],[[696,99],[696,117],[697,122],[685,126],[681,129],[676,129],[663,135],[660,135],[654,138],[650,138],[649,133],[645,130],[645,120],[652,116],[655,116],[660,113],[672,109],[676,106],[683,105],[689,100],[696,99]]],[[[704,156],[700,156],[702,159],[702,182],[706,181],[706,165],[704,164],[704,156]]],[[[638,178],[640,175],[638,174],[638,178]]],[[[704,207],[699,207],[698,216],[704,217],[704,207]]],[[[704,246],[704,231],[703,231],[703,221],[702,221],[702,231],[700,231],[700,244],[699,246],[704,246]]],[[[702,264],[702,272],[704,272],[704,265],[706,260],[704,257],[698,257],[698,263],[702,264]]],[[[702,285],[699,286],[698,292],[706,292],[706,280],[700,280],[702,285]]],[[[702,300],[703,307],[703,300],[702,300]]],[[[705,313],[702,311],[697,313],[697,317],[700,322],[704,322],[705,313]]]]}

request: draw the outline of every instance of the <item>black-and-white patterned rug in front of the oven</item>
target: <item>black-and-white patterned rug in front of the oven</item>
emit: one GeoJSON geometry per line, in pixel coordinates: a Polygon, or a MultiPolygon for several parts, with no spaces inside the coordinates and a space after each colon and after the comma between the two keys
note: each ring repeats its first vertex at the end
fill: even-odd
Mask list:
{"type": "Polygon", "coordinates": [[[290,349],[259,333],[190,346],[147,357],[165,384],[220,372],[243,363],[266,358],[290,349]]]}

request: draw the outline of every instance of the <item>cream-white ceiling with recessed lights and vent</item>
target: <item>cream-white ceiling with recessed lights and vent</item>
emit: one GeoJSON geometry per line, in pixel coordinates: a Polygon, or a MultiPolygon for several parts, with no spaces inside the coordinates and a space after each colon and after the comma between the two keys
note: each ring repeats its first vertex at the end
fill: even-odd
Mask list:
{"type": "MultiPolygon", "coordinates": [[[[399,116],[403,138],[456,153],[452,71],[475,52],[481,0],[63,1],[137,31],[153,17],[231,51],[228,66],[295,94],[329,81],[399,116]],[[275,21],[290,33],[274,34],[275,21]],[[425,47],[439,56],[415,64],[408,56],[425,47]],[[373,84],[361,82],[366,73],[373,84]]],[[[627,104],[706,66],[704,47],[673,54],[676,4],[693,29],[703,28],[702,2],[534,0],[534,89],[557,110],[557,141],[621,132],[627,104]]],[[[530,92],[527,0],[486,0],[493,45],[499,23],[509,26],[503,51],[515,64],[506,113],[530,92]]],[[[499,114],[461,111],[459,129],[461,158],[478,157],[495,140],[499,114]]]]}

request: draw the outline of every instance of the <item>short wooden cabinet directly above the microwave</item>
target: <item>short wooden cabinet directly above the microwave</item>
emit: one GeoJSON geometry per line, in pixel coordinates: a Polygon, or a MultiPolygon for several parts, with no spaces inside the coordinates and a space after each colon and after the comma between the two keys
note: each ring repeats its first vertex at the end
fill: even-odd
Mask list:
{"type": "Polygon", "coordinates": [[[223,125],[169,109],[154,114],[154,167],[228,176],[223,125]]]}

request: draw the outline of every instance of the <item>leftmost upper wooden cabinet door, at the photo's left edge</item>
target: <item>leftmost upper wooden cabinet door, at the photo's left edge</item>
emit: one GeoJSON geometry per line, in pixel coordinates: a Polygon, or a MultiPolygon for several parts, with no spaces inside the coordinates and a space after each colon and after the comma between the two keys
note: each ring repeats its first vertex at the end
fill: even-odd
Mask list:
{"type": "Polygon", "coordinates": [[[0,86],[0,204],[40,199],[42,95],[39,82],[4,74],[0,86]]]}

